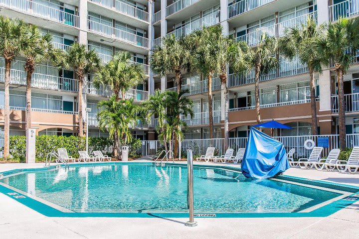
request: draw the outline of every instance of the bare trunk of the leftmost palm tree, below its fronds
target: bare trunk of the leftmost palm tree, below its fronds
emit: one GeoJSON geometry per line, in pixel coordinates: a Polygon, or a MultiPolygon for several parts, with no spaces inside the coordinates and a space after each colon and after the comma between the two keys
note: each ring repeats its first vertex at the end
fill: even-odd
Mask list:
{"type": "Polygon", "coordinates": [[[7,159],[9,156],[9,132],[10,132],[10,99],[9,99],[9,87],[10,87],[10,69],[11,61],[5,59],[5,109],[4,109],[4,147],[3,158],[7,159]]]}

